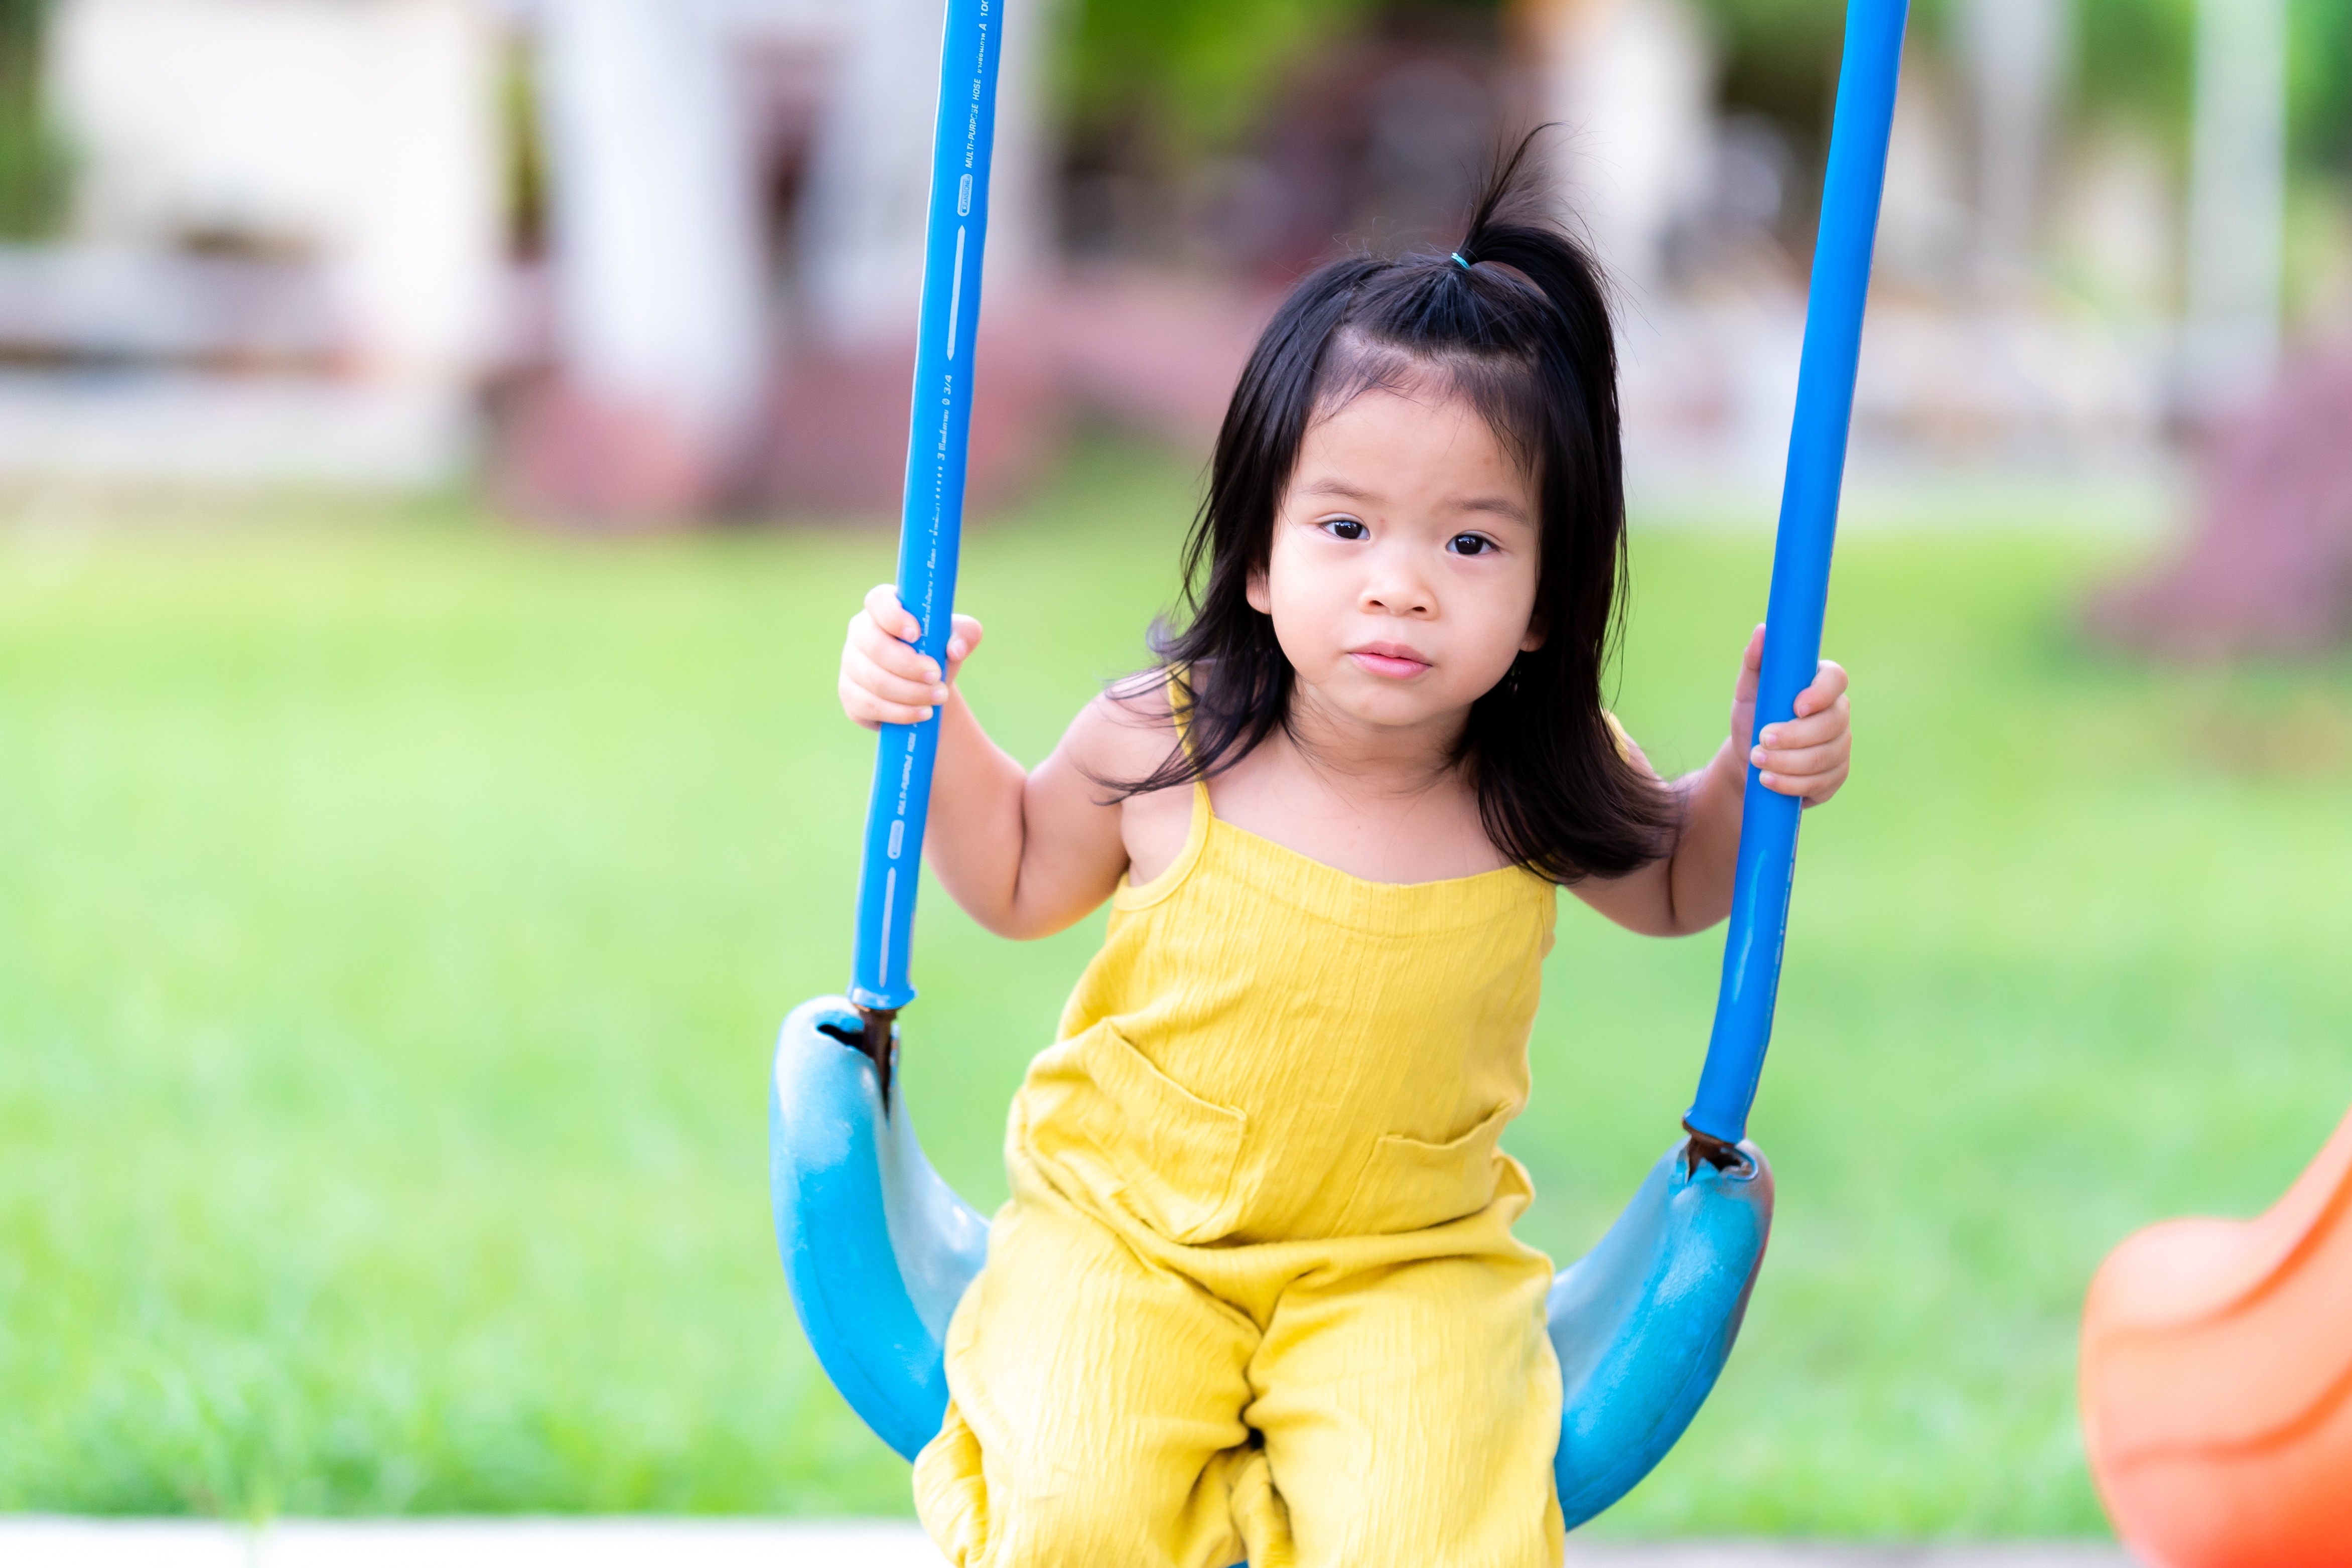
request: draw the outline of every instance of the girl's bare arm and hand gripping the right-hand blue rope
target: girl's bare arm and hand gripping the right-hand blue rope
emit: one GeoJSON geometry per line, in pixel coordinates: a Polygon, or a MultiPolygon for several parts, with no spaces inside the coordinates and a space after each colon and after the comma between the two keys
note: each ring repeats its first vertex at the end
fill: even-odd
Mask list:
{"type": "MultiPolygon", "coordinates": [[[[1689,936],[1731,914],[1740,853],[1740,802],[1748,764],[1764,771],[1764,788],[1797,795],[1806,806],[1837,795],[1853,759],[1853,719],[1846,672],[1820,661],[1813,684],[1797,693],[1797,717],[1764,731],[1750,757],[1740,741],[1755,729],[1757,677],[1764,668],[1764,628],[1748,639],[1740,679],[1731,693],[1731,736],[1715,759],[1672,783],[1682,797],[1682,832],[1672,853],[1637,872],[1578,882],[1576,893],[1609,919],[1644,936],[1689,936]]],[[[1635,759],[1649,766],[1635,750],[1635,759]]]]}

